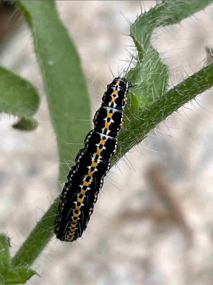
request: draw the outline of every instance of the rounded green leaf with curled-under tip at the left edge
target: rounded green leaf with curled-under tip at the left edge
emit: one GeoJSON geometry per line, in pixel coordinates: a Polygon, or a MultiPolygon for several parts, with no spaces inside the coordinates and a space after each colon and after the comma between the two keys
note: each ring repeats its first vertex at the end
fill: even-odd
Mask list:
{"type": "Polygon", "coordinates": [[[15,128],[32,130],[37,121],[31,116],[39,106],[36,88],[27,80],[0,66],[0,112],[20,117],[15,128]]]}

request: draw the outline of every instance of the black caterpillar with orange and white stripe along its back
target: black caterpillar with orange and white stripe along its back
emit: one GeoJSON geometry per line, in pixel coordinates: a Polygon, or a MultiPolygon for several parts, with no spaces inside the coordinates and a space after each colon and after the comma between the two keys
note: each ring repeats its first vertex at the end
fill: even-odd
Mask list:
{"type": "Polygon", "coordinates": [[[85,137],[85,147],[78,152],[76,164],[62,190],[54,228],[59,240],[74,241],[87,227],[117,148],[117,135],[124,124],[123,109],[130,87],[132,84],[122,77],[114,78],[107,85],[101,107],[93,119],[94,129],[85,137]]]}

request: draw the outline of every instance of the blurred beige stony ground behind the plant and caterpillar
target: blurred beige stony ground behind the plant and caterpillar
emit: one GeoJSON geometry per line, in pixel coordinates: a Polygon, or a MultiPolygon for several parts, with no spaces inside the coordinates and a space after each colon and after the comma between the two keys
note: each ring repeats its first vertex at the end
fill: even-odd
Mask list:
{"type": "MultiPolygon", "coordinates": [[[[153,3],[141,1],[146,10],[153,3]]],[[[125,18],[133,22],[140,3],[58,1],[57,7],[82,58],[94,113],[112,79],[108,64],[117,75],[130,50],[125,18]]],[[[41,106],[34,132],[12,129],[15,118],[0,122],[0,231],[11,237],[12,254],[57,196],[60,163],[33,39],[23,19],[17,23],[2,37],[0,64],[37,86],[41,106]]],[[[208,7],[155,31],[171,85],[204,66],[212,30],[208,7]]],[[[41,278],[28,284],[213,284],[212,113],[208,91],[128,153],[107,175],[83,238],[72,244],[53,238],[33,265],[41,278]]]]}

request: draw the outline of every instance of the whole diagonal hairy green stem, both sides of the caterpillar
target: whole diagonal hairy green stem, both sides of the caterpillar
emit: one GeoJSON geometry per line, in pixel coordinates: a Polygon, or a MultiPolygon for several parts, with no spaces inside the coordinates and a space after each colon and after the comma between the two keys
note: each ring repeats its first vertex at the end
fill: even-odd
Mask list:
{"type": "MultiPolygon", "coordinates": [[[[119,135],[122,146],[117,156],[113,157],[115,164],[127,151],[138,144],[143,137],[168,115],[178,110],[186,102],[194,99],[198,94],[213,85],[213,63],[183,80],[166,94],[156,99],[148,108],[140,112],[140,118],[131,122],[131,128],[119,135]]],[[[58,199],[58,198],[57,198],[58,199]]],[[[19,251],[12,259],[14,266],[27,263],[32,264],[47,245],[53,235],[55,215],[57,213],[57,199],[44,214],[36,227],[25,240],[19,251]]]]}

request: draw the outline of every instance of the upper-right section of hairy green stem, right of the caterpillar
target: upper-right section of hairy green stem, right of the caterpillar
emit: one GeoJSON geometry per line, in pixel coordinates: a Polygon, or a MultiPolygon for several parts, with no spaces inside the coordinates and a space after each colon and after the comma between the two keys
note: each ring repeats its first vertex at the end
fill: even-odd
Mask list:
{"type": "Polygon", "coordinates": [[[212,86],[213,63],[186,78],[149,105],[147,104],[119,134],[118,140],[122,144],[113,156],[112,164],[115,164],[134,145],[140,143],[157,124],[212,86]]]}

